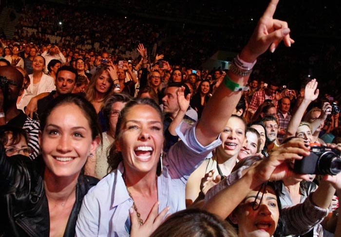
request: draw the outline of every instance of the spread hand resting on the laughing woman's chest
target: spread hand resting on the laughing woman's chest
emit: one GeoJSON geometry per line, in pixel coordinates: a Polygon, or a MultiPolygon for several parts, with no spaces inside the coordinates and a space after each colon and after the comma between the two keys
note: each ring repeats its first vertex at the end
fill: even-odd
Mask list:
{"type": "Polygon", "coordinates": [[[131,207],[129,209],[130,220],[132,222],[130,237],[150,236],[153,231],[159,227],[170,208],[166,207],[162,210],[162,212],[160,212],[160,214],[158,214],[158,209],[159,202],[156,202],[153,205],[146,221],[143,223],[143,225],[139,225],[136,212],[133,207],[131,207]]]}

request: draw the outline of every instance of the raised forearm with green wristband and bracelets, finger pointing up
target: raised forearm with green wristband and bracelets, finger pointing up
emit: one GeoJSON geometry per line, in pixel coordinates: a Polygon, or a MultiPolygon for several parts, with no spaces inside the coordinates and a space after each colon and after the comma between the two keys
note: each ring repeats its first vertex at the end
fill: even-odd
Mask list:
{"type": "Polygon", "coordinates": [[[274,52],[282,40],[287,47],[294,43],[289,36],[290,29],[287,23],[273,19],[278,1],[271,0],[248,43],[239,54],[238,59],[235,59],[235,63],[232,63],[222,85],[209,99],[195,129],[196,137],[203,146],[207,146],[215,140],[226,126],[228,118],[243,93],[243,91],[234,91],[234,89],[238,90],[238,88],[246,86],[257,57],[267,49],[274,52]],[[236,66],[236,63],[239,65],[236,66]],[[214,116],[212,116],[212,111],[214,111],[214,116]]]}

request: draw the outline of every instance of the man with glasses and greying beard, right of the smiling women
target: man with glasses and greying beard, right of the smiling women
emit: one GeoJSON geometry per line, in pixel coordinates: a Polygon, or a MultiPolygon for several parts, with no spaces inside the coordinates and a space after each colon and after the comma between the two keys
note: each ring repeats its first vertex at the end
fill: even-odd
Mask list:
{"type": "Polygon", "coordinates": [[[273,150],[277,149],[279,143],[277,141],[278,133],[278,123],[277,118],[271,115],[266,115],[262,118],[262,124],[265,127],[267,152],[271,153],[273,150]]]}

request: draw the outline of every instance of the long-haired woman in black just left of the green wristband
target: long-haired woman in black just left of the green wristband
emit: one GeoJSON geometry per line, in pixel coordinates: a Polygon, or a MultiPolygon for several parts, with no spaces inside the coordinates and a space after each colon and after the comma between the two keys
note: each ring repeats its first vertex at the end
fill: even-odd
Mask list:
{"type": "Polygon", "coordinates": [[[190,100],[190,106],[198,112],[198,118],[201,117],[203,109],[209,99],[209,81],[204,80],[201,81],[198,86],[198,92],[193,95],[193,98],[190,100]]]}

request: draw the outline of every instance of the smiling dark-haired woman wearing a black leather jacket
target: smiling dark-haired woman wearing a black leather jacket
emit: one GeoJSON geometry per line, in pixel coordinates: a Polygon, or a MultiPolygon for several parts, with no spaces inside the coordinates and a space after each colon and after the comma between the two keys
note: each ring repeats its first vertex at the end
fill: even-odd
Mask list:
{"type": "Polygon", "coordinates": [[[34,161],[23,155],[9,159],[0,147],[5,236],[74,236],[81,201],[98,182],[80,174],[100,140],[96,112],[88,101],[59,95],[40,126],[42,152],[34,161]]]}

